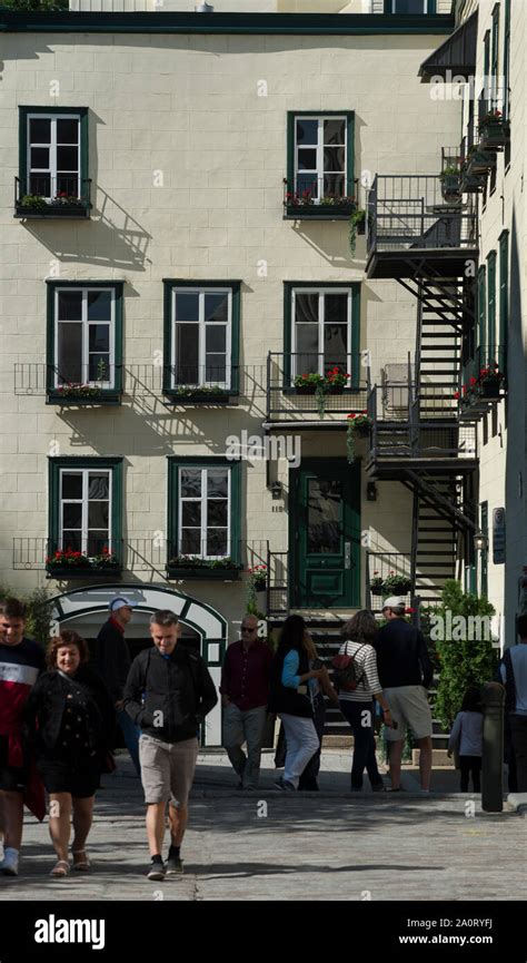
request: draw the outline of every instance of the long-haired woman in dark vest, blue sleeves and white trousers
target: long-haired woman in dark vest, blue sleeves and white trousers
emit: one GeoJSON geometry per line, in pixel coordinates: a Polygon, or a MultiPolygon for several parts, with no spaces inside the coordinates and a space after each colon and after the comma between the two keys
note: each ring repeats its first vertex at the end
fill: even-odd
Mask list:
{"type": "Polygon", "coordinates": [[[280,717],[287,743],[284,777],[275,786],[285,792],[298,789],[300,775],[320,746],[308,686],[321,680],[325,670],[309,668],[306,636],[301,616],[289,616],[271,662],[269,711],[280,717]]]}

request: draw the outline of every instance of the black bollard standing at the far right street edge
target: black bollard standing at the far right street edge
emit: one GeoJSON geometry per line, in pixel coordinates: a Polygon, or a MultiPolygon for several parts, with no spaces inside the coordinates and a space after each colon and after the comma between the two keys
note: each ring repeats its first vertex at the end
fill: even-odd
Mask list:
{"type": "Polygon", "coordinates": [[[504,715],[505,689],[487,682],[481,689],[484,706],[481,808],[501,813],[504,808],[504,715]]]}

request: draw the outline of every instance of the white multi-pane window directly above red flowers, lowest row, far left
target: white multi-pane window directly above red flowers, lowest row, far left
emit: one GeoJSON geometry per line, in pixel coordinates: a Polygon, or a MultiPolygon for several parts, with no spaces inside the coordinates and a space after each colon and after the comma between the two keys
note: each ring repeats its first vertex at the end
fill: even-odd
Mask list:
{"type": "Polygon", "coordinates": [[[61,469],[59,544],[88,557],[112,549],[111,470],[61,469]]]}

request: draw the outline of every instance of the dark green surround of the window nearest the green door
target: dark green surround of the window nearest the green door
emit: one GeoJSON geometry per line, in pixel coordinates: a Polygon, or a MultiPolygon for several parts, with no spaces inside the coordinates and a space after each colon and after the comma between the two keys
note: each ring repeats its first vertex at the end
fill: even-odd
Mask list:
{"type": "MultiPolygon", "coordinates": [[[[241,462],[227,458],[168,456],[168,558],[178,554],[179,542],[179,469],[180,468],[229,468],[230,469],[230,544],[231,558],[241,564],[241,462]]],[[[168,560],[167,558],[167,560],[168,560]]]]}

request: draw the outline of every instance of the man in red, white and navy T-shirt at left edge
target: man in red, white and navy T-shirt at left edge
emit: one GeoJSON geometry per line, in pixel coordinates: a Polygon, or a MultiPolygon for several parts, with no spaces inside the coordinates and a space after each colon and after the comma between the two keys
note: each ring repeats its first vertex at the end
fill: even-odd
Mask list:
{"type": "Polygon", "coordinates": [[[23,795],[29,759],[22,745],[26,699],[43,669],[43,651],[24,639],[26,610],[18,599],[6,599],[0,640],[0,810],[4,876],[18,876],[23,825],[23,795]]]}

